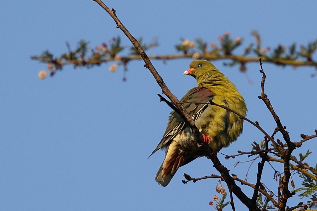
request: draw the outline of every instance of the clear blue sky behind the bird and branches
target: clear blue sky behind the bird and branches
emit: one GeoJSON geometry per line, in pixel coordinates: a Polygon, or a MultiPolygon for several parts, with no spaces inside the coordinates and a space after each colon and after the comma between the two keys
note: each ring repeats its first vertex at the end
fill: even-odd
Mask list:
{"type": "MultiPolygon", "coordinates": [[[[142,36],[146,42],[159,38],[159,47],[148,54],[176,53],[174,45],[180,37],[218,43],[217,37],[225,31],[243,37],[243,47],[254,41],[254,29],[262,36],[263,47],[306,45],[317,38],[316,1],[105,3],[117,10],[135,37],[142,36]]],[[[160,87],[142,61],[129,64],[126,82],[122,67],[116,73],[108,70],[112,63],[91,69],[68,66],[52,78],[37,77],[46,65],[30,56],[47,49],[59,55],[67,51],[65,41],[73,48],[81,39],[96,46],[120,35],[123,44],[131,46],[98,4],[90,0],[1,1],[0,20],[0,210],[213,210],[208,202],[217,195],[218,180],[181,182],[184,172],[192,177],[219,174],[210,160],[199,158],[181,167],[165,188],[154,180],[164,152],[146,158],[159,143],[171,109],[159,101],[160,87]]],[[[241,53],[243,47],[236,52],[241,53]]],[[[195,79],[183,76],[191,59],[152,62],[179,98],[196,86],[195,79]]],[[[225,67],[223,61],[214,64],[243,94],[248,118],[259,121],[271,134],[275,122],[257,98],[262,76],[258,63],[247,65],[253,84],[238,66],[225,67]]],[[[314,134],[317,78],[311,74],[315,69],[295,70],[266,62],[263,68],[265,91],[292,140],[301,140],[301,133],[314,134]]],[[[249,151],[253,141],[262,139],[263,134],[245,122],[243,135],[221,152],[249,151]]],[[[307,161],[314,166],[315,143],[305,143],[294,155],[312,150],[307,161]]],[[[236,168],[233,164],[251,158],[218,157],[230,173],[245,178],[250,163],[236,168]]],[[[248,182],[256,181],[257,162],[248,182]]],[[[273,165],[282,171],[281,164],[273,165]]],[[[263,176],[263,182],[276,191],[278,184],[268,164],[263,176]]],[[[301,181],[296,175],[293,178],[296,188],[300,187],[301,181]]],[[[251,189],[242,188],[251,197],[251,189]]],[[[289,205],[295,205],[300,199],[291,201],[289,205]]],[[[235,203],[237,210],[246,210],[237,199],[235,203]]]]}

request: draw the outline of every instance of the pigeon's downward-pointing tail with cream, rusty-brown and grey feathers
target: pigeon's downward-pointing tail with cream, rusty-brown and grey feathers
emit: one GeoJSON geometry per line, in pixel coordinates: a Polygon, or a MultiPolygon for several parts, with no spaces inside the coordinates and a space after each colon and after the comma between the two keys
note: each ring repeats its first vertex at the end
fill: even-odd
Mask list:
{"type": "Polygon", "coordinates": [[[156,173],[155,180],[159,182],[163,187],[173,178],[177,169],[181,167],[186,160],[182,155],[179,155],[178,144],[175,141],[166,148],[165,159],[156,173]]]}

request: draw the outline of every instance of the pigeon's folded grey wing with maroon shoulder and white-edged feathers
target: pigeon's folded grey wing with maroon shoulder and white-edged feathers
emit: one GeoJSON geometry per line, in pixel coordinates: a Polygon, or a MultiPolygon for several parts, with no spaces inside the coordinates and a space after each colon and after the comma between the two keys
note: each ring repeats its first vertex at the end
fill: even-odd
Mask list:
{"type": "MultiPolygon", "coordinates": [[[[180,102],[208,103],[213,96],[214,94],[211,92],[210,89],[201,86],[196,86],[189,90],[180,100],[180,102]]],[[[188,112],[189,116],[191,116],[191,118],[194,121],[196,121],[199,118],[199,116],[204,112],[204,110],[208,107],[207,104],[195,103],[184,103],[183,106],[188,112]]],[[[173,140],[175,136],[177,136],[186,127],[188,127],[188,125],[185,123],[184,119],[181,118],[178,115],[178,113],[172,111],[163,138],[151,155],[153,155],[157,150],[161,149],[166,144],[168,144],[171,140],[173,140]]],[[[151,155],[149,157],[151,157],[151,155]]]]}

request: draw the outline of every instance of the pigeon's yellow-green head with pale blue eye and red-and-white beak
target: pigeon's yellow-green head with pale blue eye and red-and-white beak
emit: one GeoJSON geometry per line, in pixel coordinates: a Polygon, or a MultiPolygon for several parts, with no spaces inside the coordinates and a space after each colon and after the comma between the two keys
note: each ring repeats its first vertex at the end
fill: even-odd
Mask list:
{"type": "Polygon", "coordinates": [[[193,76],[198,83],[206,79],[223,75],[220,71],[209,61],[206,60],[195,60],[189,65],[190,69],[184,72],[184,75],[193,76]]]}

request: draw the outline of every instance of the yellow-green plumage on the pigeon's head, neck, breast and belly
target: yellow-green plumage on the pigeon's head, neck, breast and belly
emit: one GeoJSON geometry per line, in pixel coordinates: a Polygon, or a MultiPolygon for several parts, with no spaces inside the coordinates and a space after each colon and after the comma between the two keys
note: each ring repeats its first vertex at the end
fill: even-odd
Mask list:
{"type": "MultiPolygon", "coordinates": [[[[197,86],[208,88],[215,94],[212,99],[214,103],[225,105],[243,116],[246,115],[247,107],[242,95],[236,86],[214,65],[209,61],[197,60],[191,62],[190,68],[196,70],[191,75],[196,78],[197,86]],[[201,69],[197,68],[198,64],[203,65],[201,69]]],[[[215,151],[228,146],[243,131],[243,119],[214,105],[209,105],[201,118],[202,123],[196,123],[196,125],[200,125],[202,131],[210,137],[209,146],[215,151]]]]}

